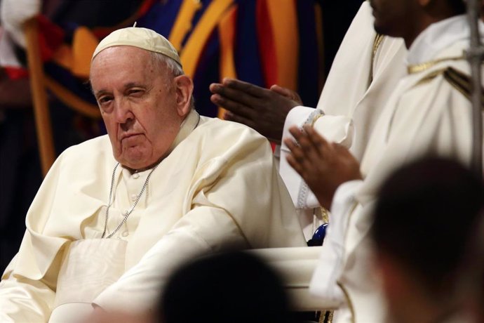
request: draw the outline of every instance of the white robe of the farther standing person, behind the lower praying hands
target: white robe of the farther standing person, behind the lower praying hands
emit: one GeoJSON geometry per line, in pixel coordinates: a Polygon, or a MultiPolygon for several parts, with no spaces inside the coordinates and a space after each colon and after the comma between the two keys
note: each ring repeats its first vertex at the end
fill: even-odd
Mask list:
{"type": "MultiPolygon", "coordinates": [[[[365,1],[332,63],[317,109],[294,107],[285,119],[283,140],[292,138],[290,126],[312,124],[326,139],[349,147],[361,160],[384,103],[405,75],[407,53],[401,39],[378,36],[373,20],[370,4],[365,1]]],[[[304,235],[309,239],[320,224],[313,217],[318,201],[286,161],[289,153],[282,144],[279,171],[298,209],[304,235]]]]}

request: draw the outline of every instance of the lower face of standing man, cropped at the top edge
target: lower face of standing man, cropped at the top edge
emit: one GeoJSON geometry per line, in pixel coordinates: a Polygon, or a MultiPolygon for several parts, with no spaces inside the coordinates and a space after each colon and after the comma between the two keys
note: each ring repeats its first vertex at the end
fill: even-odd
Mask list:
{"type": "Polygon", "coordinates": [[[405,37],[412,14],[414,0],[370,0],[375,17],[374,27],[379,34],[405,37]]]}

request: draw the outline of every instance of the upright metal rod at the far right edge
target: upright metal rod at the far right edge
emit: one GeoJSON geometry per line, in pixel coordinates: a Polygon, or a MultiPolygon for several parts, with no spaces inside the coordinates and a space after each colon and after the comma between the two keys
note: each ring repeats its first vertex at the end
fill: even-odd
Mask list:
{"type": "Polygon", "coordinates": [[[480,65],[484,49],[480,42],[478,21],[482,0],[467,0],[467,18],[471,27],[471,46],[467,52],[471,65],[471,102],[472,102],[472,159],[471,167],[481,178],[483,177],[483,93],[480,65]]]}

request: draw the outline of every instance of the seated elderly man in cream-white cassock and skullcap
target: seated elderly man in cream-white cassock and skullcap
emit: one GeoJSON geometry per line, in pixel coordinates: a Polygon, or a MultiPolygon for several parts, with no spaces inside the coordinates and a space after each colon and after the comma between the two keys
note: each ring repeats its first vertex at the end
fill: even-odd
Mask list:
{"type": "Polygon", "coordinates": [[[149,310],[191,256],[305,244],[267,139],[201,117],[161,35],[110,34],[90,83],[108,135],[70,147],[43,181],[2,276],[0,322],[149,310]]]}

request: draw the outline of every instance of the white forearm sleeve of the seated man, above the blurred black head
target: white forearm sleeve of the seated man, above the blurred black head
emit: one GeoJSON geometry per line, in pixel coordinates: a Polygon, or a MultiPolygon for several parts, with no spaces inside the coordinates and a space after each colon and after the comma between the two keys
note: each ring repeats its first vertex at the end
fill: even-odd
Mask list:
{"type": "Polygon", "coordinates": [[[220,251],[215,248],[222,245],[248,246],[227,211],[210,206],[192,209],[93,303],[128,312],[156,308],[154,302],[174,270],[196,256],[220,251]]]}

